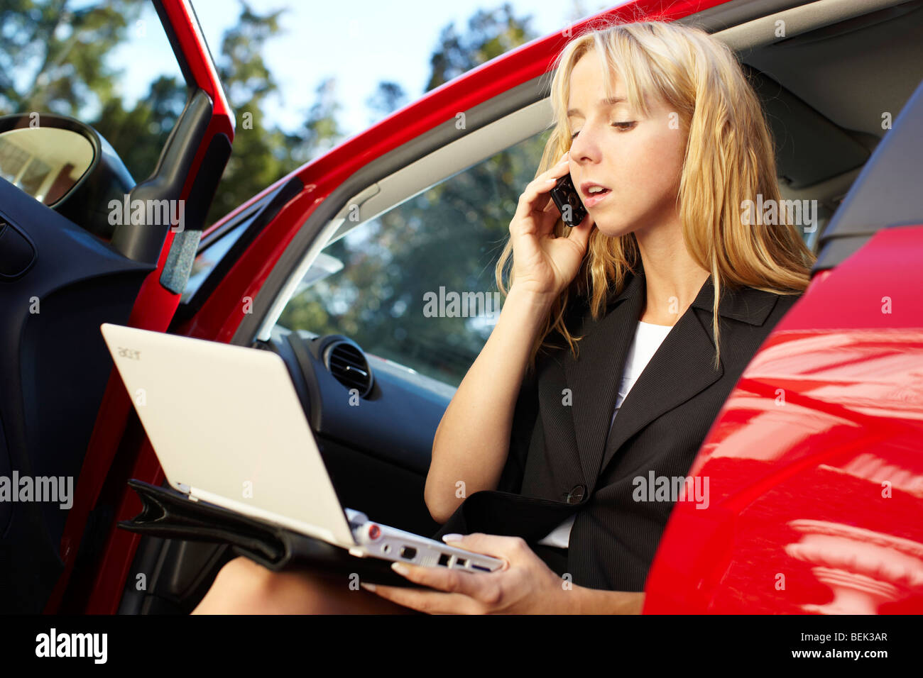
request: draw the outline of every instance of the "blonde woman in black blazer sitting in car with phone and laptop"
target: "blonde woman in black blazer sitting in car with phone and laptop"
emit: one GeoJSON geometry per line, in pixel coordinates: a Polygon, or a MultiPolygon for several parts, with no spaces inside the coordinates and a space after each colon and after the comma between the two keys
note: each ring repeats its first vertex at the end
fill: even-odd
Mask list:
{"type": "Polygon", "coordinates": [[[237,558],[196,613],[641,612],[674,502],[709,504],[689,467],[814,257],[795,224],[745,207],[780,199],[773,142],[722,42],[616,24],[556,66],[556,125],[497,263],[506,301],[426,477],[437,538],[504,568],[351,590],[237,558]],[[548,193],[568,173],[588,211],[572,228],[548,193]]]}

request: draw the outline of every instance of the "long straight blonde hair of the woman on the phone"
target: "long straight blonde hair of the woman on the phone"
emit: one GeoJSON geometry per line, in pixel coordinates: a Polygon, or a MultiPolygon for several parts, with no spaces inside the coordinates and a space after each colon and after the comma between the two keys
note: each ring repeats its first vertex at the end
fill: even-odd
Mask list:
{"type": "MultiPolygon", "coordinates": [[[[677,113],[677,126],[688,135],[685,160],[677,195],[683,238],[695,261],[712,274],[714,288],[713,333],[715,369],[719,364],[718,302],[725,285],[747,286],[779,294],[804,291],[815,259],[785,216],[778,210],[778,224],[756,223],[742,217],[744,201],[779,202],[773,138],[760,101],[750,87],[731,50],[704,30],[662,21],[639,21],[592,28],[570,41],[558,54],[551,80],[551,105],[555,123],[545,144],[535,176],[554,165],[570,148],[567,117],[570,73],[585,54],[601,60],[605,73],[625,83],[629,104],[648,115],[647,103],[665,101],[677,113]]],[[[605,82],[605,96],[614,96],[605,82]]],[[[749,203],[748,203],[749,204],[749,203]]],[[[753,220],[750,220],[753,221],[753,220]]],[[[570,227],[558,219],[556,236],[570,227]]],[[[503,272],[511,264],[509,240],[497,262],[497,286],[503,294],[503,272]]],[[[605,314],[610,289],[622,291],[628,271],[636,273],[640,253],[633,232],[609,237],[593,229],[586,255],[569,287],[552,304],[545,326],[533,344],[530,366],[548,336],[557,331],[574,357],[577,341],[567,327],[571,295],[586,298],[593,318],[605,314]]],[[[509,286],[513,272],[509,270],[509,286]]]]}

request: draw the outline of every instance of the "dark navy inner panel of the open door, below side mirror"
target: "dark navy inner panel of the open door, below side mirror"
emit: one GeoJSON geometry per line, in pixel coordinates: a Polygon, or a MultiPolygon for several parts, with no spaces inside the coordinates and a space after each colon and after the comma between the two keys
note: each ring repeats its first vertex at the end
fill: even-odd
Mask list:
{"type": "MultiPolygon", "coordinates": [[[[127,322],[154,266],[121,256],[3,180],[0,220],[2,242],[15,232],[30,248],[28,268],[0,278],[0,476],[65,479],[73,488],[112,365],[99,325],[127,322]]],[[[66,517],[54,503],[0,501],[0,570],[19,583],[4,610],[41,611],[62,569],[66,517]]]]}

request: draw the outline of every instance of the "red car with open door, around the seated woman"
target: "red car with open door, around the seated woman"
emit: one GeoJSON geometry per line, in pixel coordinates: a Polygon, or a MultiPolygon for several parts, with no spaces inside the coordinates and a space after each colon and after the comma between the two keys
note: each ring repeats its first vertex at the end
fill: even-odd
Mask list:
{"type": "MultiPolygon", "coordinates": [[[[818,206],[813,281],[713,422],[690,471],[709,506],[677,502],[644,613],[923,612],[923,3],[807,4],[636,0],[588,19],[689,22],[730,44],[772,123],[785,199],[818,206]]],[[[187,613],[232,557],[117,527],[140,510],[126,482],[164,478],[103,322],[278,352],[342,503],[438,529],[423,500],[433,434],[486,330],[426,336],[405,311],[470,275],[427,268],[440,248],[492,269],[486,239],[503,232],[478,210],[509,222],[550,123],[548,68],[583,26],[428,92],[204,228],[234,112],[189,3],[154,5],[188,99],[150,178],[132,183],[102,137],[49,115],[95,164],[51,206],[0,182],[0,477],[78,479],[66,511],[0,502],[7,612],[187,613]],[[186,228],[101,234],[93,215],[123,189],[185,199],[186,228]],[[378,257],[374,275],[343,278],[369,266],[357,252],[378,257]],[[424,280],[391,290],[398,265],[424,280]],[[351,387],[377,396],[349,407],[351,387]]],[[[0,139],[23,122],[0,118],[0,139]]]]}

